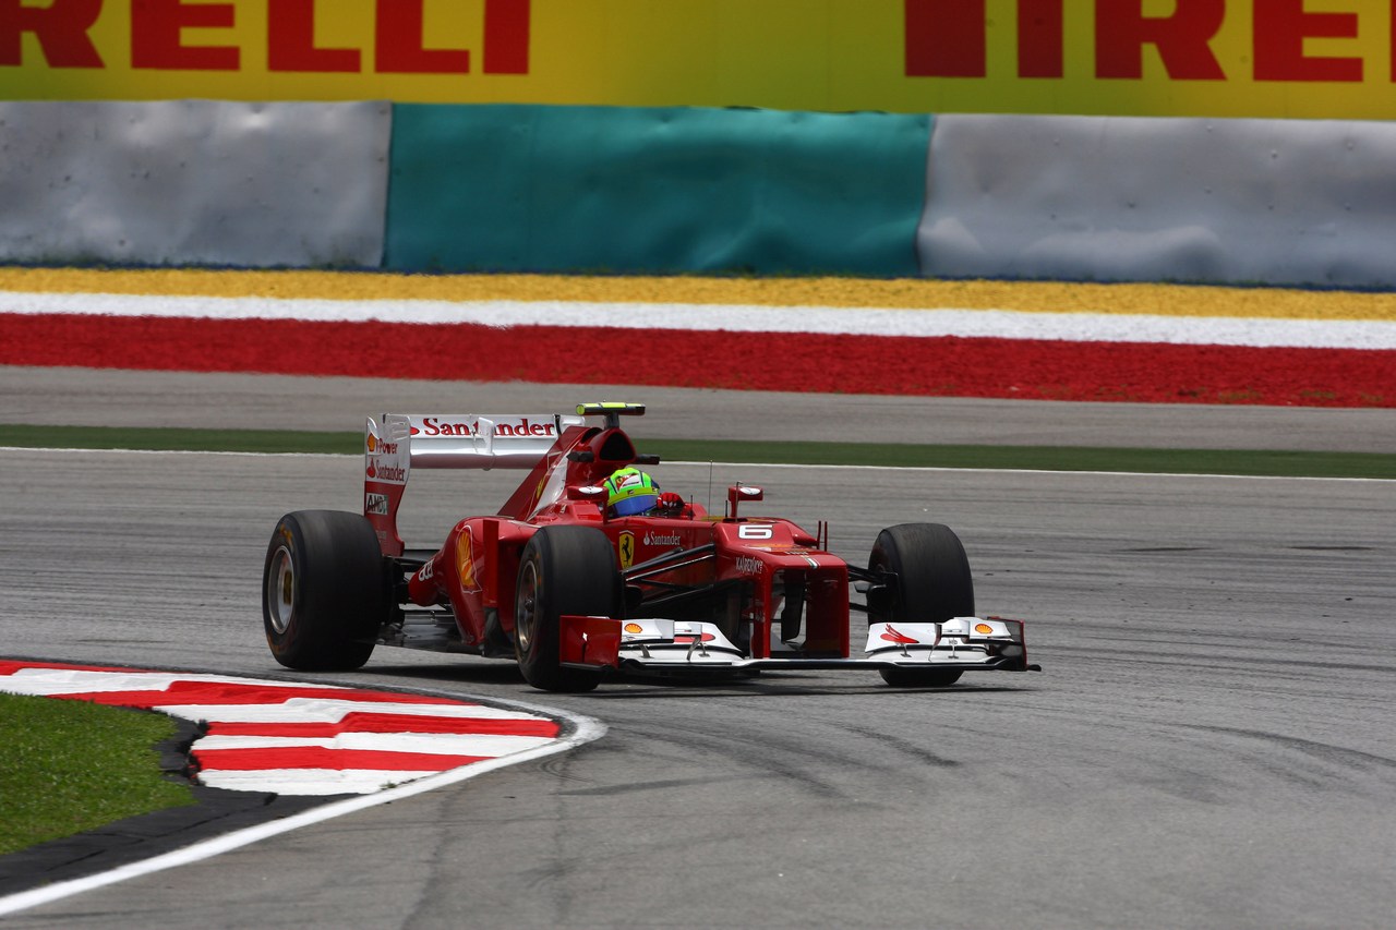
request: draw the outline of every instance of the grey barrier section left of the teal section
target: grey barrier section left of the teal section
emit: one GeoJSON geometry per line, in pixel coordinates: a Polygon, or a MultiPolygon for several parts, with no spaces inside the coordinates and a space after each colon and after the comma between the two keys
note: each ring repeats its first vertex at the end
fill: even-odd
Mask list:
{"type": "Polygon", "coordinates": [[[0,102],[0,260],[383,260],[385,102],[0,102]]]}

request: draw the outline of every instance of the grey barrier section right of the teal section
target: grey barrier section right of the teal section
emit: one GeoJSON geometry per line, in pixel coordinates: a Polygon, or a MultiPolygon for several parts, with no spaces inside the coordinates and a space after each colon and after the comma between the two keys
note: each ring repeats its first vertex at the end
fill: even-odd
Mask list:
{"type": "Polygon", "coordinates": [[[1396,285],[1396,124],[941,116],[935,276],[1396,285]]]}

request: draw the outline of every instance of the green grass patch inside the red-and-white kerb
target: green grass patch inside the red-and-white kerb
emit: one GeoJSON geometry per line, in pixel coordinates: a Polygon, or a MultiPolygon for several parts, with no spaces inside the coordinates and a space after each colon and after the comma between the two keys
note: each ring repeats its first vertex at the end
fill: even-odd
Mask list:
{"type": "Polygon", "coordinates": [[[161,774],[162,715],[0,694],[0,855],[194,803],[161,774]]]}

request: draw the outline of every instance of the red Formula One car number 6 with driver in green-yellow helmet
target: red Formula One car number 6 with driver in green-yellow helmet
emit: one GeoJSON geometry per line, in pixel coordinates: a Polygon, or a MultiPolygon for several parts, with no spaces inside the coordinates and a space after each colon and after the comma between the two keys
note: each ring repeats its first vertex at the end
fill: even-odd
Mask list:
{"type": "Polygon", "coordinates": [[[861,568],[826,552],[822,522],[810,533],[750,517],[758,487],[729,487],[725,512],[708,514],[638,471],[658,458],[635,451],[620,418],[644,412],[370,419],[363,514],[296,511],[272,533],[272,655],[307,670],[356,669],[377,644],[500,656],[546,691],[616,672],[877,669],[895,686],[946,686],[966,670],[1037,667],[1020,621],[974,616],[969,561],[946,526],[884,529],[861,568]],[[417,468],[529,472],[498,514],[412,550],[396,524],[417,468]],[[850,582],[866,603],[850,603],[850,582]],[[857,658],[850,610],[868,614],[857,658]]]}

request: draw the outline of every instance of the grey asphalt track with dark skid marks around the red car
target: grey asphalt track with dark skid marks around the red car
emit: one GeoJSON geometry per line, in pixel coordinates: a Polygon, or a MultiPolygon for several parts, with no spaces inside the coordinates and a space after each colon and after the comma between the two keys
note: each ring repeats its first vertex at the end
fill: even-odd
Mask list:
{"type": "MultiPolygon", "coordinates": [[[[81,394],[84,373],[67,376],[81,394]]],[[[141,406],[103,394],[94,409],[141,406]]],[[[22,397],[7,388],[7,406],[22,397]]],[[[828,409],[814,397],[787,404],[786,422],[828,409]]],[[[726,427],[704,422],[702,406],[685,413],[709,430],[697,434],[730,434],[713,433],[726,427]]],[[[222,394],[228,416],[281,416],[267,409],[222,394]]],[[[658,427],[653,409],[644,423],[658,427]]],[[[1241,411],[1258,436],[1289,429],[1287,412],[1241,411]]],[[[1058,408],[1068,434],[1093,429],[1071,422],[1092,415],[1058,408]]],[[[0,466],[7,654],[254,676],[281,672],[258,620],[271,526],[288,510],[352,510],[362,487],[349,457],[6,450],[0,466]]],[[[508,663],[381,649],[334,680],[533,700],[609,732],[7,923],[1389,926],[1393,483],[656,472],[699,499],[761,483],[765,512],[829,519],[832,547],[854,560],[881,526],[955,526],[980,610],[1029,620],[1046,672],[930,693],[805,672],[543,695],[508,663]]],[[[493,510],[518,475],[419,478],[403,522],[424,543],[458,515],[493,510]]]]}

